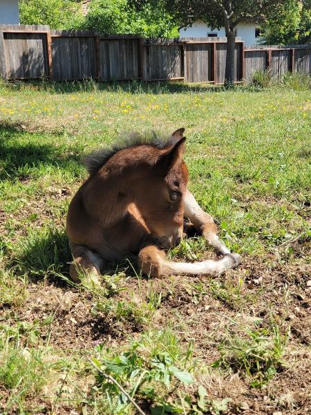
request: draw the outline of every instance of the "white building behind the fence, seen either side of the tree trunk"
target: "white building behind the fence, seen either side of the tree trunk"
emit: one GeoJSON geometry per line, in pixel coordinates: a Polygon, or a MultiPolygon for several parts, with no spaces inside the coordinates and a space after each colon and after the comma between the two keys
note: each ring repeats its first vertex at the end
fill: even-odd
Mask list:
{"type": "MultiPolygon", "coordinates": [[[[191,26],[179,30],[180,37],[223,37],[225,28],[211,30],[207,24],[198,19],[191,26]]],[[[239,23],[236,26],[236,36],[241,37],[245,46],[258,44],[261,39],[259,26],[255,23],[239,23]]]]}

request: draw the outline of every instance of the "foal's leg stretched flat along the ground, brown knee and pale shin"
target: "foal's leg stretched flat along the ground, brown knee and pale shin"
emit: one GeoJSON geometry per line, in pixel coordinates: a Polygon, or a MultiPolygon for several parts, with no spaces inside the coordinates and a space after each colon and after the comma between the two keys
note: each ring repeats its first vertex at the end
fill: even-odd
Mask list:
{"type": "Polygon", "coordinates": [[[151,277],[168,277],[169,275],[217,275],[235,268],[240,264],[240,255],[224,255],[222,259],[209,259],[202,262],[185,263],[168,261],[164,251],[154,245],[146,246],[138,254],[138,265],[144,274],[151,277]]]}

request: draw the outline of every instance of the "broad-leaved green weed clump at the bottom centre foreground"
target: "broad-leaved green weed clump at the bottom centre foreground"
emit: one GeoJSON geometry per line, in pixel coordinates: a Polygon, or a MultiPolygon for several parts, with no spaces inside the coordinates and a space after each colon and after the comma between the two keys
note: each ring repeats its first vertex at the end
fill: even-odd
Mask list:
{"type": "Polygon", "coordinates": [[[179,413],[180,404],[167,403],[166,396],[180,385],[187,387],[194,383],[186,369],[190,356],[189,348],[183,351],[180,340],[169,330],[143,335],[122,353],[98,346],[97,358],[92,358],[98,371],[97,388],[106,395],[112,414],[130,413],[131,403],[107,375],[122,385],[131,398],[148,400],[151,414],[179,413]]]}

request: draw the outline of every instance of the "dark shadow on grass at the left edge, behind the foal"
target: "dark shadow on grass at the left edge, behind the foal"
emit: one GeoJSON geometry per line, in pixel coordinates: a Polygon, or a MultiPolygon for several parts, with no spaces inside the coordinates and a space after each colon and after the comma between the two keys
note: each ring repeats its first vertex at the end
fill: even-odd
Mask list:
{"type": "Polygon", "coordinates": [[[18,122],[0,122],[0,179],[24,180],[39,166],[57,166],[70,172],[81,169],[79,147],[68,149],[64,145],[41,144],[41,133],[23,130],[23,127],[18,122]],[[15,138],[19,140],[29,134],[35,135],[38,142],[15,142],[15,138]]]}

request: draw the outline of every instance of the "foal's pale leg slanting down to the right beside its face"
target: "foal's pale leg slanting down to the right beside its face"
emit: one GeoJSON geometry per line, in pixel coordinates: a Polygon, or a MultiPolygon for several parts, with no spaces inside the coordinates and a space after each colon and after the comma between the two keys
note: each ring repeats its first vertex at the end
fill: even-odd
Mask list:
{"type": "MultiPolygon", "coordinates": [[[[185,217],[194,224],[198,233],[207,239],[209,245],[213,246],[218,255],[227,255],[230,250],[217,236],[217,226],[210,214],[204,212],[194,199],[193,194],[186,190],[185,194],[185,217]]],[[[237,254],[236,254],[237,255],[237,254]]]]}

